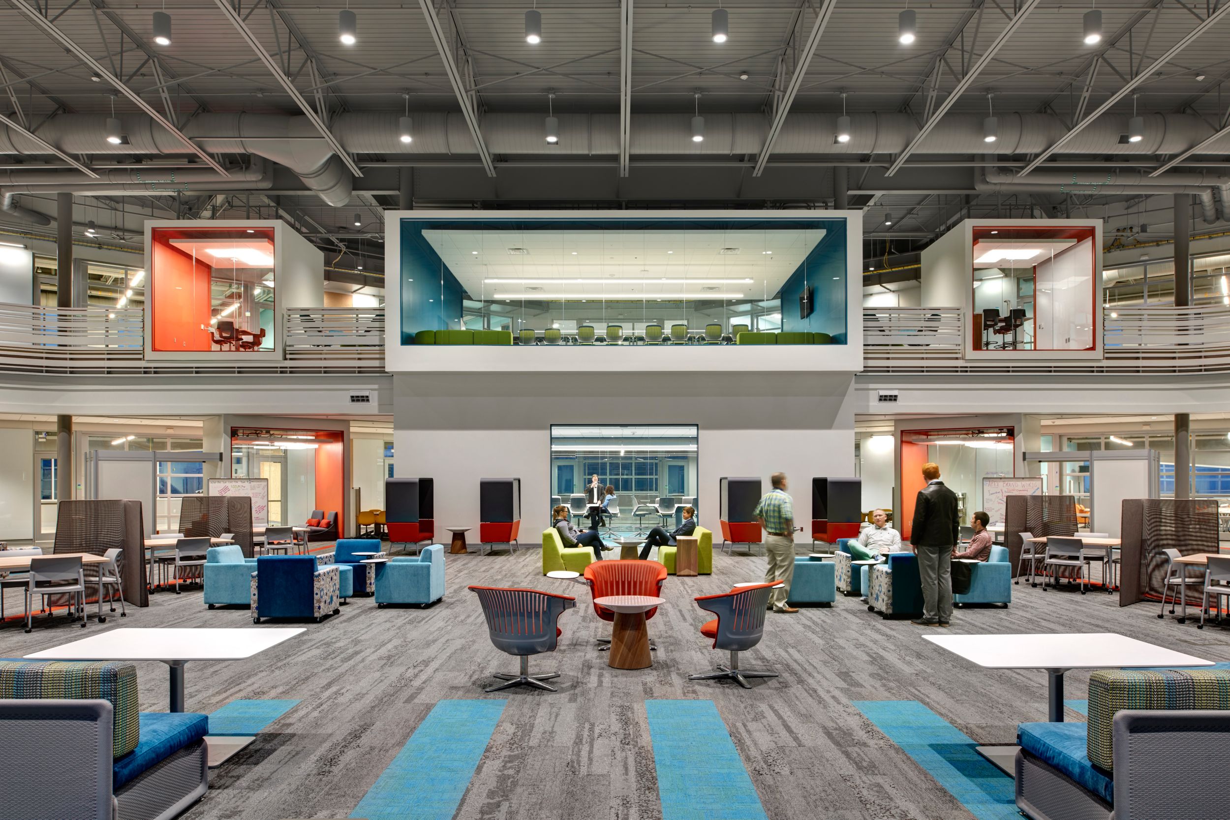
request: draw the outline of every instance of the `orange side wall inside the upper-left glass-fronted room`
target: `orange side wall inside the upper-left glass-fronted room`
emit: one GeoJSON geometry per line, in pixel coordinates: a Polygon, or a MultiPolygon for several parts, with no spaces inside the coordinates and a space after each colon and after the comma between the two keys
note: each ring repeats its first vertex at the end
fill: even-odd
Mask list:
{"type": "Polygon", "coordinates": [[[209,326],[213,268],[166,242],[155,240],[150,245],[154,349],[212,350],[204,327],[209,326]]]}

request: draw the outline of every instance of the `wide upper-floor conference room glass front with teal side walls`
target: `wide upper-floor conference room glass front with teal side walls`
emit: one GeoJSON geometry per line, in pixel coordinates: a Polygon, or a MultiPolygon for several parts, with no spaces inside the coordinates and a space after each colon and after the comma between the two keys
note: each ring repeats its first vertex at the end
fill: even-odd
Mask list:
{"type": "Polygon", "coordinates": [[[843,344],[845,250],[844,220],[406,219],[402,343],[843,344]]]}

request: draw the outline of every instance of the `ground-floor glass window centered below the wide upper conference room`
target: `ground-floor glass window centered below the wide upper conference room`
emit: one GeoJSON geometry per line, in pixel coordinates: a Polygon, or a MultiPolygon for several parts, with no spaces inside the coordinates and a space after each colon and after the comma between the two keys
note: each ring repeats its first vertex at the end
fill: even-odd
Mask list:
{"type": "Polygon", "coordinates": [[[632,536],[657,525],[673,530],[683,508],[696,507],[696,451],[694,424],[554,424],[547,520],[557,504],[584,515],[585,488],[598,476],[604,495],[606,487],[615,495],[604,534],[632,536]]]}

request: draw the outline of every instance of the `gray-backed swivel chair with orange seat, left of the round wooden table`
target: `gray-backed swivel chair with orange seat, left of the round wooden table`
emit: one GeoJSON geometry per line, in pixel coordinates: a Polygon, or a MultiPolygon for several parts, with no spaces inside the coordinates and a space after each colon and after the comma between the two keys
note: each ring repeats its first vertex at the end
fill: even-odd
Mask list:
{"type": "MultiPolygon", "coordinates": [[[[614,562],[613,562],[614,563],[614,562]]],[[[560,672],[545,675],[530,674],[530,655],[555,652],[558,645],[560,616],[565,610],[577,605],[571,595],[540,593],[536,589],[514,589],[506,586],[470,586],[478,596],[482,615],[487,620],[487,634],[491,643],[503,653],[520,659],[520,671],[517,675],[496,672],[496,677],[507,681],[485,692],[498,692],[514,686],[533,686],[534,688],[555,692],[554,686],[542,681],[558,677],[560,672]]]]}

